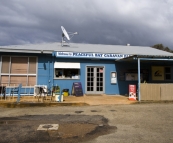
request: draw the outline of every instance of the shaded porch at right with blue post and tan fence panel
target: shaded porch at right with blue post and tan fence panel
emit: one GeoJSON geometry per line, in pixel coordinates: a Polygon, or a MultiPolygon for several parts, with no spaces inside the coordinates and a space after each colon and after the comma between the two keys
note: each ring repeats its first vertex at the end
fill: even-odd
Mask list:
{"type": "Polygon", "coordinates": [[[172,59],[159,56],[120,61],[117,63],[120,94],[128,95],[129,85],[134,85],[139,101],[172,100],[172,63],[172,59]]]}

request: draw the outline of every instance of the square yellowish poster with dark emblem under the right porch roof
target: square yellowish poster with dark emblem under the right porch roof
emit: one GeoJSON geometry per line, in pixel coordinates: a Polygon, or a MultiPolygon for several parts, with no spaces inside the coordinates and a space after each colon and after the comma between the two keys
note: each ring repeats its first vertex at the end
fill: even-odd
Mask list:
{"type": "Polygon", "coordinates": [[[164,67],[152,66],[152,80],[164,80],[164,67]]]}

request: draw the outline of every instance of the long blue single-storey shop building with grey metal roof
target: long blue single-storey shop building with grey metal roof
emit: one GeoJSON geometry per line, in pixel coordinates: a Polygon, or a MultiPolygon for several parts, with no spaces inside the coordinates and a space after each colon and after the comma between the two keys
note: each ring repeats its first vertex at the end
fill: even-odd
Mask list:
{"type": "Polygon", "coordinates": [[[0,56],[1,85],[22,83],[31,95],[35,85],[72,94],[80,82],[84,94],[125,95],[129,84],[173,83],[173,54],[151,47],[45,43],[0,46],[0,56]]]}

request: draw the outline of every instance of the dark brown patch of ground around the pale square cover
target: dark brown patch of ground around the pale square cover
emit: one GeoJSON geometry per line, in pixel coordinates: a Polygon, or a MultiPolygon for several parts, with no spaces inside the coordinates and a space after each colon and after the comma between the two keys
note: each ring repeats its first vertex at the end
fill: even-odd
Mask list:
{"type": "MultiPolygon", "coordinates": [[[[47,128],[46,128],[47,129],[47,128]]],[[[100,115],[26,115],[0,118],[1,143],[61,142],[91,140],[116,130],[100,115]],[[58,130],[37,130],[39,125],[59,124],[58,130]]]]}

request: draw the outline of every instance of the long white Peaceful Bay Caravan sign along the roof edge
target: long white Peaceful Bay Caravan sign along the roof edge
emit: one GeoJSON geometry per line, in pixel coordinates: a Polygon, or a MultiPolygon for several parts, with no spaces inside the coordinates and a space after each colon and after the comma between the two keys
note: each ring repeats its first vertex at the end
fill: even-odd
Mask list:
{"type": "Polygon", "coordinates": [[[98,59],[123,59],[130,55],[124,54],[103,54],[103,53],[83,53],[83,52],[56,52],[56,57],[68,58],[98,58],[98,59]]]}

